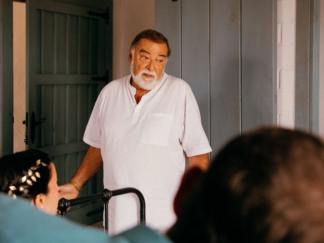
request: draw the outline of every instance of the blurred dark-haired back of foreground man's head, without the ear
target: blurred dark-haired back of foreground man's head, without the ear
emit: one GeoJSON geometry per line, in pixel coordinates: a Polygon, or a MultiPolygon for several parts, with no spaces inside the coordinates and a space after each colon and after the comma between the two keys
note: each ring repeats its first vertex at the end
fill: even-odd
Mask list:
{"type": "Polygon", "coordinates": [[[277,128],[236,137],[189,197],[175,242],[185,228],[182,242],[324,242],[324,145],[277,128]]]}

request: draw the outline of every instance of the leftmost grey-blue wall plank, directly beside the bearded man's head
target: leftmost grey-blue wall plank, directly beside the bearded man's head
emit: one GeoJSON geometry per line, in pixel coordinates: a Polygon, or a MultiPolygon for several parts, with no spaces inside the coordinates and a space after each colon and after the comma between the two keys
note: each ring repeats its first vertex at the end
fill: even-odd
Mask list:
{"type": "Polygon", "coordinates": [[[165,34],[171,47],[166,72],[181,77],[181,0],[155,1],[155,29],[165,34]]]}

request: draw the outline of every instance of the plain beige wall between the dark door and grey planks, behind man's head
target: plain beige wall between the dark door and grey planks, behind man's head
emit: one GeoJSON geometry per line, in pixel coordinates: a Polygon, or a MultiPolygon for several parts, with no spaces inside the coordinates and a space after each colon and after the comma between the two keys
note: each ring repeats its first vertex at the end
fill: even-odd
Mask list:
{"type": "Polygon", "coordinates": [[[142,30],[154,29],[154,8],[153,0],[113,1],[113,79],[130,74],[127,58],[131,43],[142,30]]]}

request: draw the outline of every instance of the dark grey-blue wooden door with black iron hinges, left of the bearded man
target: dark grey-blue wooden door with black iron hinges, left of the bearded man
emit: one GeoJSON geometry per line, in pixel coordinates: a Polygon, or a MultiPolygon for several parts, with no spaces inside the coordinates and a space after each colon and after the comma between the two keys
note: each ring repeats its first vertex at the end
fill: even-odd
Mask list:
{"type": "MultiPolygon", "coordinates": [[[[96,2],[96,1],[92,1],[96,2]]],[[[100,1],[98,1],[100,2],[100,1]]],[[[29,134],[28,147],[48,152],[57,167],[58,183],[66,183],[85,156],[88,145],[83,134],[104,83],[93,76],[105,75],[104,19],[88,11],[104,12],[54,1],[27,1],[27,106],[35,113],[35,140],[29,134]],[[44,123],[41,123],[43,118],[44,123]]],[[[108,5],[108,1],[107,1],[108,5]]],[[[31,123],[29,123],[30,125],[31,123]]],[[[31,131],[31,127],[29,127],[31,131]]],[[[83,188],[80,196],[103,188],[102,171],[83,188]]],[[[77,209],[98,210],[96,204],[77,209]]],[[[78,214],[67,217],[78,220],[78,214]]],[[[83,223],[102,220],[91,214],[83,223]]]]}

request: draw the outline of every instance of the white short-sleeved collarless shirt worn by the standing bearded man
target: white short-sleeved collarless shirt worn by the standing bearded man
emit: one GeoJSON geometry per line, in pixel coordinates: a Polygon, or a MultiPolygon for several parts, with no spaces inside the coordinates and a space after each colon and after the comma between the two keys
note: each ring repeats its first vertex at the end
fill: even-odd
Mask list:
{"type": "MultiPolygon", "coordinates": [[[[136,104],[131,75],[113,80],[101,91],[84,141],[100,148],[104,187],[135,187],[146,203],[146,224],[164,232],[175,222],[173,199],[185,169],[185,155],[210,152],[198,105],[188,84],[164,73],[158,85],[136,104]]],[[[133,194],[109,201],[109,233],[139,222],[133,194]]]]}

